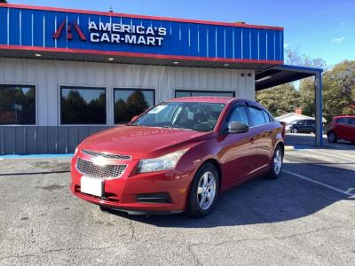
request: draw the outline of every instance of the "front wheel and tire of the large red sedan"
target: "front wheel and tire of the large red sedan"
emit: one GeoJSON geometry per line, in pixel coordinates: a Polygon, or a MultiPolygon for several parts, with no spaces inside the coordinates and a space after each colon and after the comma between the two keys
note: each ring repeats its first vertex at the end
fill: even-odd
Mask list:
{"type": "Polygon", "coordinates": [[[195,218],[209,215],[219,192],[217,168],[207,162],[198,169],[188,195],[186,214],[195,218]],[[212,198],[212,199],[210,199],[212,198]]]}

